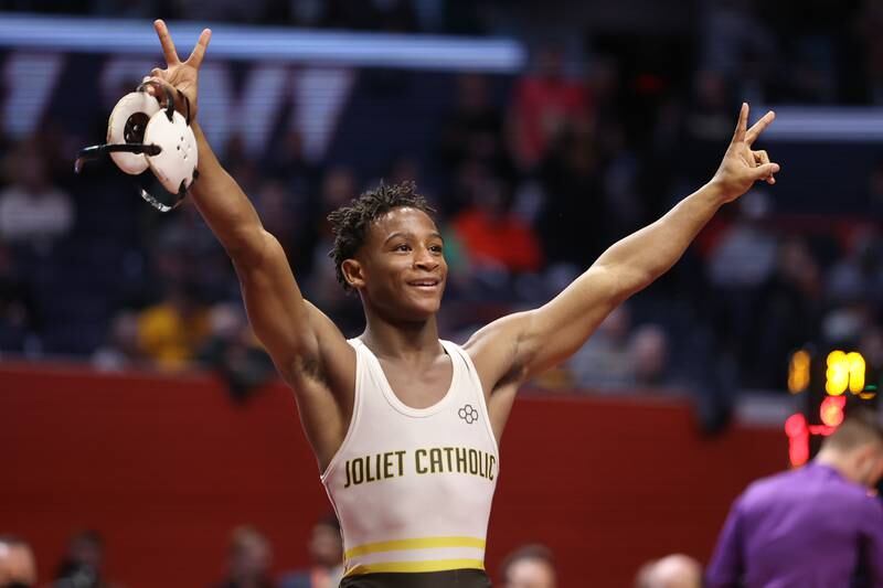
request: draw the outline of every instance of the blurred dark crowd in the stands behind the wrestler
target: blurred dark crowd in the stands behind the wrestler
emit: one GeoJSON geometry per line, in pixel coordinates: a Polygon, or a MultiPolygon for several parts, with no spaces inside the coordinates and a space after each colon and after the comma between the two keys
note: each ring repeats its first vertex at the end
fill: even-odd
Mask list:
{"type": "MultiPolygon", "coordinates": [[[[437,209],[450,266],[440,330],[462,341],[549,300],[607,246],[710,180],[743,100],[883,101],[877,2],[695,2],[681,30],[634,46],[637,32],[594,31],[578,19],[550,42],[530,19],[497,18],[529,4],[0,0],[2,10],[530,39],[519,76],[450,74],[449,95],[436,96],[447,115],[414,139],[423,150],[403,150],[383,168],[310,160],[292,131],[262,153],[238,136],[215,146],[306,296],[350,336],[361,307],[334,279],[326,217],[381,180],[416,181],[437,209]]],[[[404,73],[359,75],[353,100],[408,83],[404,73]]],[[[76,148],[100,140],[105,124],[83,136],[50,117],[39,136],[0,137],[0,352],[99,370],[202,365],[244,397],[273,366],[247,329],[231,264],[192,204],[160,215],[110,172],[73,174],[76,148]]],[[[361,137],[357,150],[384,139],[361,137]]],[[[843,193],[831,194],[790,174],[787,150],[760,147],[783,164],[778,184],[723,209],[668,276],[535,387],[691,391],[713,425],[738,389],[784,391],[788,356],[807,343],[850,345],[883,364],[883,153],[863,148],[877,163],[860,178],[828,170],[849,175],[843,193]],[[789,189],[799,199],[777,197],[789,189]]]]}

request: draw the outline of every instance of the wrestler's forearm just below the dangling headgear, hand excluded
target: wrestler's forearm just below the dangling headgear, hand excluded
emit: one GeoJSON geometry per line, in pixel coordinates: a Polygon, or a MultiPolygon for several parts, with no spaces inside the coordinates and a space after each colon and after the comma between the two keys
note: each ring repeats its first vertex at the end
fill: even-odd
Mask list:
{"type": "Polygon", "coordinates": [[[255,207],[217,161],[196,122],[193,132],[199,146],[199,178],[191,195],[196,207],[234,260],[258,256],[264,239],[255,207]]]}

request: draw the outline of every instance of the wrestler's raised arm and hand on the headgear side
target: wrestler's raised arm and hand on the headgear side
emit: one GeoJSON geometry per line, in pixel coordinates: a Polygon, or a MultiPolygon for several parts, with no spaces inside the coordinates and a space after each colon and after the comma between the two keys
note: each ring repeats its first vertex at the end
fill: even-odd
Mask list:
{"type": "Polygon", "coordinates": [[[217,161],[195,122],[198,73],[211,31],[202,32],[193,53],[181,62],[166,23],[158,20],[155,28],[167,67],[153,70],[151,79],[187,96],[194,119],[200,175],[191,195],[233,260],[248,320],[294,388],[301,423],[323,468],[349,425],[354,351],[328,317],[304,299],[281,245],[264,228],[255,207],[217,161]]]}

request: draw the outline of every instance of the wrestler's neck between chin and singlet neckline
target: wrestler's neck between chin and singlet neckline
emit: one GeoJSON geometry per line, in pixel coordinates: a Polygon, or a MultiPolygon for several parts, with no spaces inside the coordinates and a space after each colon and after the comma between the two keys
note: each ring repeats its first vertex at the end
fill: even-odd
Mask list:
{"type": "Polygon", "coordinates": [[[387,360],[428,362],[444,353],[435,314],[424,321],[396,321],[366,312],[360,339],[374,355],[387,360]]]}

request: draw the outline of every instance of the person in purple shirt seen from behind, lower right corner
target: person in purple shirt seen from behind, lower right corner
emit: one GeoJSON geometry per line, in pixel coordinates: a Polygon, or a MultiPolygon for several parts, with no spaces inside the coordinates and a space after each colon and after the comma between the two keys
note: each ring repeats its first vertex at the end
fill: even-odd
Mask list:
{"type": "Polygon", "coordinates": [[[883,426],[851,413],[804,468],[751,484],[730,511],[709,588],[883,587],[883,426]]]}

